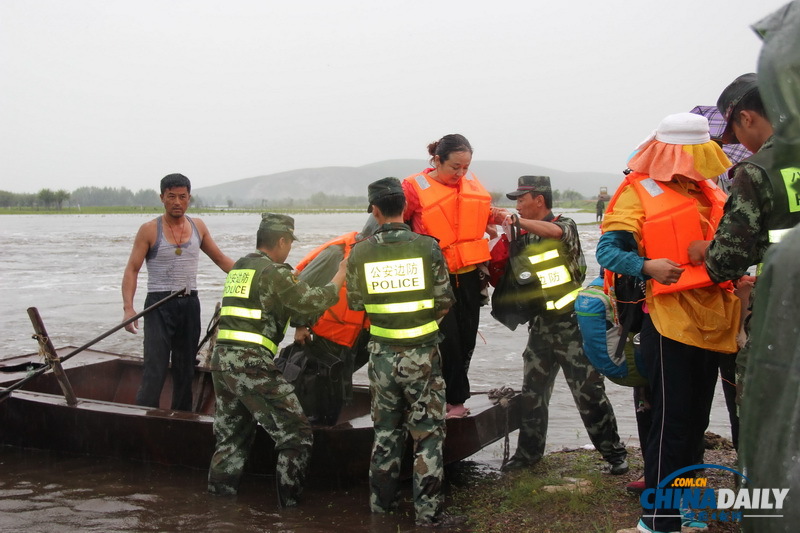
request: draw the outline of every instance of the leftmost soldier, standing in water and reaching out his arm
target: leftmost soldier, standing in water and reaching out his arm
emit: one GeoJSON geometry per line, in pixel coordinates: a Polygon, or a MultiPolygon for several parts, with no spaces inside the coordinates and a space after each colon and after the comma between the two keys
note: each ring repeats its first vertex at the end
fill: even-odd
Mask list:
{"type": "Polygon", "coordinates": [[[308,470],[313,434],[293,387],[272,359],[290,314],[315,314],[336,303],[344,262],[324,287],[298,282],[284,261],[292,248],[294,220],[264,213],[257,250],[228,273],[217,345],[211,359],[217,397],[217,447],[208,472],[208,491],[234,495],[261,424],[275,441],[276,483],[281,506],[297,504],[308,470]]]}

